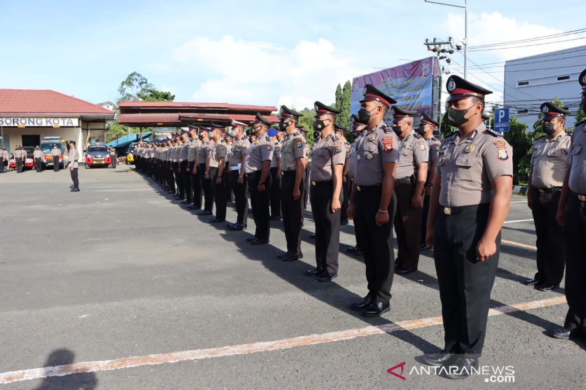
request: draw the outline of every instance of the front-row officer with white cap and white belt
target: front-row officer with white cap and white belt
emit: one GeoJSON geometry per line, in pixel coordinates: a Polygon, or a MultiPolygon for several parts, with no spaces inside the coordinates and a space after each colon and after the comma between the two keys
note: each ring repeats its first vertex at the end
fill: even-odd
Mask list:
{"type": "Polygon", "coordinates": [[[248,138],[244,136],[244,123],[233,120],[234,144],[229,157],[230,181],[234,191],[234,203],[236,205],[236,223],[228,225],[231,230],[242,230],[248,222],[248,199],[246,199],[248,178],[244,174],[244,160],[250,148],[248,138]]]}

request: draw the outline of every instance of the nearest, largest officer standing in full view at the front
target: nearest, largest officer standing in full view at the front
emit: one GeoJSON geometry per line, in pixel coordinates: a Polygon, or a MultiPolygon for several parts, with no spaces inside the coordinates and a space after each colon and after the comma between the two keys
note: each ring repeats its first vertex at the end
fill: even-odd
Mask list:
{"type": "Polygon", "coordinates": [[[452,379],[478,367],[486,334],[490,290],[499,263],[500,229],[513,185],[512,148],[482,120],[491,91],[461,77],[448,78],[448,122],[458,127],[441,144],[431,190],[427,243],[434,247],[445,347],[430,365],[456,367],[452,379]]]}

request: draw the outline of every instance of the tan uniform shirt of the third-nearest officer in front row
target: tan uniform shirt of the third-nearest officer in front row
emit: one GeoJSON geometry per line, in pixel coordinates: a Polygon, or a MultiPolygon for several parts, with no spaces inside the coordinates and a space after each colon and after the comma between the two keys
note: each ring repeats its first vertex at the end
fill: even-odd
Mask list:
{"type": "Polygon", "coordinates": [[[334,165],[344,165],[346,162],[346,146],[336,134],[320,137],[311,151],[312,182],[328,181],[333,179],[334,165]]]}

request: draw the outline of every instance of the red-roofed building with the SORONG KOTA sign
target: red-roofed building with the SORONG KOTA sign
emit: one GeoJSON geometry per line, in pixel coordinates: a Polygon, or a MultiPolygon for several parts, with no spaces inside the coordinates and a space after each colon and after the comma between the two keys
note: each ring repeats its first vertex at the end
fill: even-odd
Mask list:
{"type": "Polygon", "coordinates": [[[51,89],[0,89],[0,144],[6,150],[37,146],[43,137],[103,142],[105,122],[112,119],[114,111],[51,89]]]}

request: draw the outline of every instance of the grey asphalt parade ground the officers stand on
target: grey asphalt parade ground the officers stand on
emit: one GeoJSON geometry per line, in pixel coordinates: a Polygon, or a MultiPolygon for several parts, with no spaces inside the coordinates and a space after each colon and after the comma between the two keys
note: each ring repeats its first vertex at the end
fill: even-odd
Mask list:
{"type": "Polygon", "coordinates": [[[352,223],[340,234],[339,277],[320,283],[303,275],[314,267],[311,213],[304,258],[284,263],[281,221],[270,244],[250,246],[252,216],[243,232],[210,225],[131,165],[80,168],[79,179],[71,193],[68,171],[0,174],[0,388],[586,386],[586,343],[544,334],[563,324],[563,284],[521,283],[536,271],[524,197],[513,196],[502,230],[486,373],[452,381],[420,363],[443,347],[432,251],[418,272],[395,276],[390,312],[369,319],[349,309],[367,292],[362,258],[345,251],[352,223]]]}

